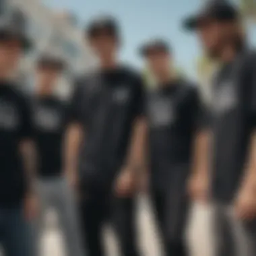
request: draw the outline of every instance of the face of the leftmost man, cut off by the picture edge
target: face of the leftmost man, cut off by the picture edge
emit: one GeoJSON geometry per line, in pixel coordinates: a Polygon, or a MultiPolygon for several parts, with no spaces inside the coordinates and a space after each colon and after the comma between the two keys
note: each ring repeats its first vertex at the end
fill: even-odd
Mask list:
{"type": "Polygon", "coordinates": [[[10,39],[0,42],[1,73],[11,75],[18,67],[22,52],[22,43],[19,40],[10,39]]]}

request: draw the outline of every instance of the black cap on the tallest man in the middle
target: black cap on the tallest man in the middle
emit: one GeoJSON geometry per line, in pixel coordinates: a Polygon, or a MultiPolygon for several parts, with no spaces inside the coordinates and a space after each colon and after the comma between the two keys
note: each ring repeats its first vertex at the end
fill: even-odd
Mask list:
{"type": "Polygon", "coordinates": [[[119,38],[119,26],[117,24],[117,20],[110,15],[100,16],[92,20],[86,27],[86,34],[89,37],[96,36],[102,31],[119,38]]]}

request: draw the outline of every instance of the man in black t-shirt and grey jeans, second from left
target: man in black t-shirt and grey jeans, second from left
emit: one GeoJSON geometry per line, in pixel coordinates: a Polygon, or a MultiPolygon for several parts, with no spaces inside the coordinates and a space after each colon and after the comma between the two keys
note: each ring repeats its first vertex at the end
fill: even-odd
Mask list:
{"type": "Polygon", "coordinates": [[[64,69],[65,61],[54,53],[42,53],[36,63],[33,125],[38,155],[37,188],[41,205],[36,231],[40,242],[46,210],[53,207],[59,216],[67,255],[82,256],[84,254],[79,236],[75,198],[63,166],[67,104],[55,94],[57,79],[64,69]]]}

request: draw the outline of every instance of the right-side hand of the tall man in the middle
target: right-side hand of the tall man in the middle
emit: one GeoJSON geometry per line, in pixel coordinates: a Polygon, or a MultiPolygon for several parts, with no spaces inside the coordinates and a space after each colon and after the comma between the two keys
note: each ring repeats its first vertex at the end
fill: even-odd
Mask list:
{"type": "Polygon", "coordinates": [[[115,194],[117,197],[127,197],[132,195],[137,189],[136,175],[131,168],[124,168],[115,183],[115,194]]]}

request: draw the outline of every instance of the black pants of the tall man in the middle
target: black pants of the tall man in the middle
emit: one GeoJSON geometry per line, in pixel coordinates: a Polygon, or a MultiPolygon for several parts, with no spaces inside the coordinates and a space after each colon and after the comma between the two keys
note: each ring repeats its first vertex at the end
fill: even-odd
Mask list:
{"type": "Polygon", "coordinates": [[[88,256],[105,256],[102,227],[106,221],[113,224],[121,253],[139,255],[135,230],[135,199],[118,199],[102,195],[88,196],[81,202],[82,228],[88,256]]]}

